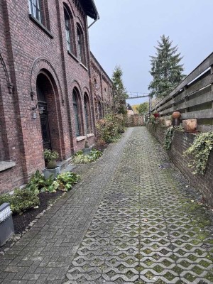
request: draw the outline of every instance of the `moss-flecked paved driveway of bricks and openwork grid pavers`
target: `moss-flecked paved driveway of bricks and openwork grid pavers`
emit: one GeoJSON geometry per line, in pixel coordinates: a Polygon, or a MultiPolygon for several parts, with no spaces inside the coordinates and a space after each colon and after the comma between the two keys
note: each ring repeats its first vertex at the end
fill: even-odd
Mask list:
{"type": "Polygon", "coordinates": [[[165,160],[128,129],[0,258],[0,283],[213,283],[209,213],[165,160]]]}

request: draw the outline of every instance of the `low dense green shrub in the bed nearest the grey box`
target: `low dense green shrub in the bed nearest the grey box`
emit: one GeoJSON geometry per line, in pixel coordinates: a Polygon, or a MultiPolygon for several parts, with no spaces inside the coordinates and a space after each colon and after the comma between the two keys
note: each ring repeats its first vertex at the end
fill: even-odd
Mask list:
{"type": "Polygon", "coordinates": [[[32,190],[16,188],[13,195],[0,195],[0,204],[9,202],[13,213],[20,213],[40,204],[38,194],[32,190]]]}

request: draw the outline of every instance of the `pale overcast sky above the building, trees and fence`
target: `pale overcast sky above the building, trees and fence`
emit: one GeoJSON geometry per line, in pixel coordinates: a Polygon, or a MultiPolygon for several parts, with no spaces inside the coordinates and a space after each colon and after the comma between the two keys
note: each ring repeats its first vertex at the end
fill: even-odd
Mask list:
{"type": "Polygon", "coordinates": [[[178,45],[186,75],[213,51],[213,0],[94,2],[100,19],[89,28],[90,49],[109,77],[121,66],[127,91],[148,92],[149,55],[160,35],[178,45]]]}

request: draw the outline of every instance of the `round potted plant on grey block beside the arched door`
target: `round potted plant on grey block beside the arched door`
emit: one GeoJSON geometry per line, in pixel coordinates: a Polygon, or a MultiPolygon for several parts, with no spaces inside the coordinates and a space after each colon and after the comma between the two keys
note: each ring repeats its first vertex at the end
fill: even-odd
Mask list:
{"type": "Polygon", "coordinates": [[[53,178],[57,178],[57,175],[60,173],[60,167],[56,163],[56,159],[59,158],[58,152],[45,149],[43,155],[46,165],[46,168],[43,170],[43,175],[46,179],[50,178],[50,175],[53,175],[53,178]]]}

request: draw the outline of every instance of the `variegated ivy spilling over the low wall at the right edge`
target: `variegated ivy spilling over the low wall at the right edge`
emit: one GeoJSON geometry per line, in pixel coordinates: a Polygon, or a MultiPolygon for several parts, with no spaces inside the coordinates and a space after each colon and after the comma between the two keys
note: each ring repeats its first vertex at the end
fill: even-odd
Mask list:
{"type": "Polygon", "coordinates": [[[198,135],[190,148],[184,152],[184,155],[192,155],[192,161],[188,166],[195,169],[194,174],[204,175],[212,148],[213,132],[207,132],[198,135]]]}

